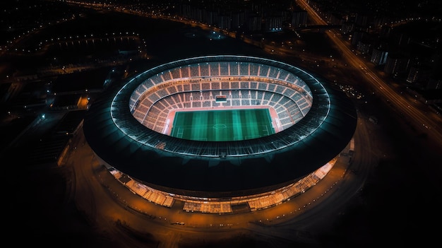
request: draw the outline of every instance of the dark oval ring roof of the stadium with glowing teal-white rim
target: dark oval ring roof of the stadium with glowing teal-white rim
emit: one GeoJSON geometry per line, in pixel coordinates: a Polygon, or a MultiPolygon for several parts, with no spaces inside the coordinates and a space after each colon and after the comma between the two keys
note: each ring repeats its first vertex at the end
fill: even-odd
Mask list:
{"type": "MultiPolygon", "coordinates": [[[[350,142],[357,124],[357,112],[344,93],[311,73],[270,59],[244,56],[182,59],[157,66],[123,83],[103,93],[92,104],[84,121],[85,137],[104,163],[150,187],[172,194],[242,196],[296,182],[335,158],[350,142]],[[134,117],[137,99],[155,85],[214,77],[210,73],[201,74],[202,70],[186,78],[173,78],[172,73],[167,73],[172,78],[160,77],[161,73],[184,66],[226,63],[248,65],[248,68],[258,66],[255,71],[260,71],[259,68],[268,71],[264,75],[252,73],[251,69],[238,69],[215,76],[241,76],[244,81],[258,77],[266,82],[271,80],[272,84],[296,83],[295,88],[299,87],[304,97],[311,99],[308,112],[276,134],[221,142],[167,136],[149,129],[134,117]],[[153,80],[159,77],[160,81],[153,80]]],[[[287,97],[294,98],[293,95],[287,97]]]]}

